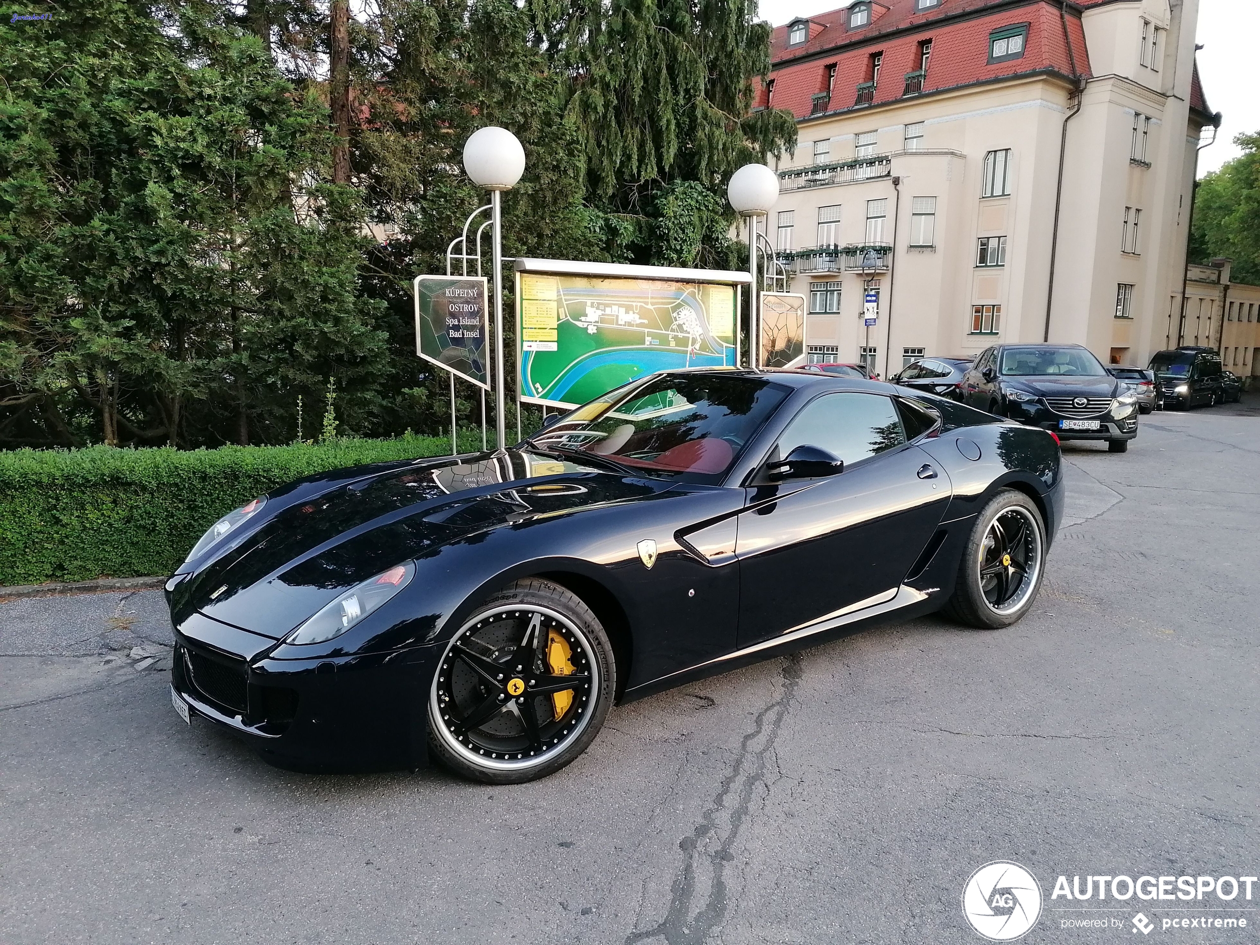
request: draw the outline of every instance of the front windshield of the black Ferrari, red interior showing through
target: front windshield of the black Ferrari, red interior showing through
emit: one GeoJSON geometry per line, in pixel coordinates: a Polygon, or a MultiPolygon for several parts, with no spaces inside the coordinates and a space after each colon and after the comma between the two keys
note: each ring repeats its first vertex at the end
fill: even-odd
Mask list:
{"type": "Polygon", "coordinates": [[[716,483],[788,394],[756,377],[662,374],[578,407],[533,444],[650,475],[716,483]]]}

